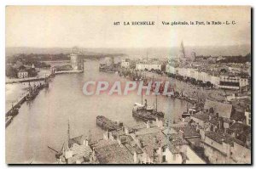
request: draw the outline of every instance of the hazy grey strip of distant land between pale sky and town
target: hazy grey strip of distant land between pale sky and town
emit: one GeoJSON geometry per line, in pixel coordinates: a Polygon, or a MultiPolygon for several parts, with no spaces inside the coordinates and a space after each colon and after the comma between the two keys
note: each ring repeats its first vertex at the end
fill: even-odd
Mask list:
{"type": "MultiPolygon", "coordinates": [[[[73,47],[61,48],[33,48],[33,47],[6,47],[6,57],[15,54],[70,54],[73,47]]],[[[180,47],[154,47],[154,48],[80,48],[84,55],[106,55],[106,54],[125,54],[131,58],[145,57],[169,57],[179,54],[180,47]]],[[[195,52],[196,55],[212,56],[245,56],[251,54],[251,45],[230,45],[230,46],[186,46],[185,54],[190,55],[195,52]]]]}

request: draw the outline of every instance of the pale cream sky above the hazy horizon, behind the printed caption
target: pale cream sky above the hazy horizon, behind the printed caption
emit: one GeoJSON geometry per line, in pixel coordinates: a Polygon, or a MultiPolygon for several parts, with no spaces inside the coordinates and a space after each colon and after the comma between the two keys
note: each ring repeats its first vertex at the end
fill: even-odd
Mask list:
{"type": "Polygon", "coordinates": [[[251,44],[251,8],[171,6],[8,6],[6,47],[157,48],[251,44]],[[162,25],[162,21],[236,25],[162,25]],[[113,25],[119,21],[120,25],[113,25]],[[154,21],[154,25],[123,25],[154,21]]]}

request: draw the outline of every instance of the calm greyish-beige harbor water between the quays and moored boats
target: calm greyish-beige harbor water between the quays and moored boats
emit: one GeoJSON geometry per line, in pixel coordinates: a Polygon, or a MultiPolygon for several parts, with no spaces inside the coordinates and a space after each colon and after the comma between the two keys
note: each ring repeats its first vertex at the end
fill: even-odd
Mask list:
{"type": "MultiPolygon", "coordinates": [[[[111,120],[122,121],[132,126],[140,123],[132,117],[131,110],[135,102],[141,102],[137,93],[126,96],[102,93],[85,96],[84,82],[107,81],[125,82],[125,77],[117,74],[99,72],[98,61],[86,60],[84,73],[55,76],[36,99],[25,102],[20,113],[6,128],[7,163],[53,163],[55,154],[48,146],[60,150],[67,140],[67,124],[70,124],[71,138],[84,134],[92,139],[102,138],[102,129],[96,126],[96,116],[104,115],[111,120]]],[[[17,85],[17,84],[13,84],[17,85]]],[[[15,86],[14,86],[15,87],[15,86]]],[[[9,90],[11,90],[9,86],[9,90]]],[[[20,94],[20,93],[18,93],[20,94]]],[[[11,94],[11,97],[14,94],[11,94]]],[[[6,96],[9,100],[9,96],[6,96]]],[[[155,96],[143,96],[148,104],[155,104],[155,96]]],[[[186,110],[186,102],[159,96],[158,110],[178,119],[186,110]]]]}

